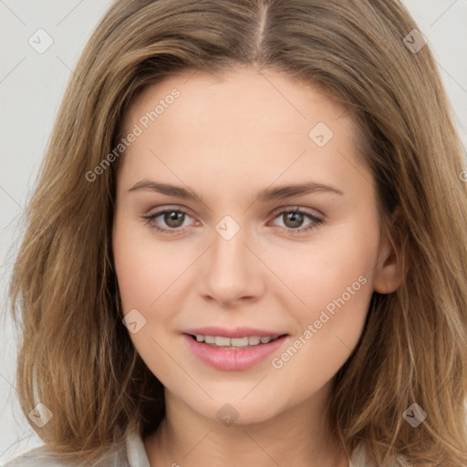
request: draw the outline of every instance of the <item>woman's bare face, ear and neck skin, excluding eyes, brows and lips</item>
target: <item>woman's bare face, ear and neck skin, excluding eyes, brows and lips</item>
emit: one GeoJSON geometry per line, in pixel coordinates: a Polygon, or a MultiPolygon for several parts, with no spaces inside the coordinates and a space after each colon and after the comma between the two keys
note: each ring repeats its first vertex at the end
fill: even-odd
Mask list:
{"type": "Polygon", "coordinates": [[[327,426],[329,389],[358,344],[373,291],[390,293],[401,280],[379,227],[371,174],[359,160],[355,122],[313,86],[238,67],[215,76],[184,73],[146,88],[126,116],[128,132],[173,88],[181,96],[125,153],[113,225],[124,313],[136,308],[146,319],[130,337],[165,387],[166,419],[144,440],[150,464],[347,467],[327,426]],[[318,122],[334,132],[321,148],[308,136],[318,122]],[[129,192],[143,179],[189,187],[202,202],[129,192]],[[262,189],[306,181],[343,194],[257,200],[262,189]],[[164,207],[188,213],[182,227],[163,215],[143,219],[164,207]],[[302,224],[287,220],[296,207],[325,223],[296,233],[314,224],[307,216],[302,224]],[[225,215],[240,226],[230,240],[215,230],[225,215]],[[273,368],[271,358],[359,276],[366,284],[273,368]],[[196,358],[182,338],[204,326],[288,337],[253,368],[224,371],[196,358]],[[230,426],[216,417],[225,403],[238,412],[230,426]]]}

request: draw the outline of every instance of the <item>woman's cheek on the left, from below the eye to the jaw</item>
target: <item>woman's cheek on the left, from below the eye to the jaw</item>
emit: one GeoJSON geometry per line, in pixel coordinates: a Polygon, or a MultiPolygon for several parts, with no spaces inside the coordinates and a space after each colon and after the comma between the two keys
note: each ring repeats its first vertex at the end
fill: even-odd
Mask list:
{"type": "Polygon", "coordinates": [[[167,384],[178,373],[164,351],[169,346],[161,329],[170,331],[172,311],[180,296],[174,281],[186,269],[187,259],[173,260],[177,255],[164,245],[128,221],[114,225],[113,256],[123,314],[138,310],[136,315],[132,312],[138,329],[129,332],[130,339],[150,371],[167,384]]]}

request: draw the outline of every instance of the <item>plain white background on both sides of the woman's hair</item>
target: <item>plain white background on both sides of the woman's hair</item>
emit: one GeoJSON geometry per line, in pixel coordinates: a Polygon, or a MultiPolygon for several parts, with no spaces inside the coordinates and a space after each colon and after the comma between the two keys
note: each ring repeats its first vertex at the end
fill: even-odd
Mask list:
{"type": "MultiPolygon", "coordinates": [[[[429,40],[467,147],[467,0],[405,4],[429,40]]],[[[22,233],[19,220],[67,80],[109,5],[109,0],[0,0],[0,463],[42,444],[19,410],[16,331],[6,314],[6,285],[22,233]],[[54,41],[43,54],[28,44],[39,28],[54,41]]]]}

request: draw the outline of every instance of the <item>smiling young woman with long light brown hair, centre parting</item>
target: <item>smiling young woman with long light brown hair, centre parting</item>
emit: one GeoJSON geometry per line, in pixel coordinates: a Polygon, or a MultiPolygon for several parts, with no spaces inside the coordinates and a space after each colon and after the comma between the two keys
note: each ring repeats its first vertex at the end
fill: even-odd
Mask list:
{"type": "Polygon", "coordinates": [[[10,465],[464,465],[464,170],[398,2],[115,2],[27,211],[10,465]]]}

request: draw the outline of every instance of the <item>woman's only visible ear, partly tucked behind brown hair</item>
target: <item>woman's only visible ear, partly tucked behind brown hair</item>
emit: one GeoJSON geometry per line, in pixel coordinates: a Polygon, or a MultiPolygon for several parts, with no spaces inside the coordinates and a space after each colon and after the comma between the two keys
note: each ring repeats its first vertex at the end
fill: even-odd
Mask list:
{"type": "Polygon", "coordinates": [[[394,292],[402,283],[405,275],[400,264],[403,252],[399,250],[397,242],[391,242],[389,238],[389,235],[392,236],[393,227],[399,215],[400,209],[398,207],[391,215],[389,233],[381,233],[378,263],[373,278],[375,292],[379,292],[379,294],[394,292]]]}

